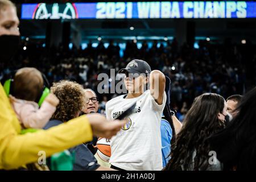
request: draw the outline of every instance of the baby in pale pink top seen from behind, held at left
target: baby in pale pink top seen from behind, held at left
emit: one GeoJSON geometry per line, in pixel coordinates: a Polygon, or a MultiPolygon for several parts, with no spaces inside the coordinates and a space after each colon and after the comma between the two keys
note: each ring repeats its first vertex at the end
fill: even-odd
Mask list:
{"type": "Polygon", "coordinates": [[[35,68],[19,69],[13,81],[13,93],[10,94],[10,102],[24,128],[43,128],[59,104],[58,98],[49,93],[43,101],[40,109],[35,101],[40,97],[44,89],[42,73],[35,68]]]}

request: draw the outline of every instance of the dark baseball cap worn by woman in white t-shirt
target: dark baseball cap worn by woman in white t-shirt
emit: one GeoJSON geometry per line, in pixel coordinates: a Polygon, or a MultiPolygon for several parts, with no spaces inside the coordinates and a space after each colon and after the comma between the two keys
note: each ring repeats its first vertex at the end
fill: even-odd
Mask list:
{"type": "Polygon", "coordinates": [[[146,61],[134,59],[127,64],[126,68],[120,69],[118,73],[125,73],[125,74],[136,74],[141,75],[142,73],[147,75],[151,72],[150,65],[147,64],[146,61]]]}

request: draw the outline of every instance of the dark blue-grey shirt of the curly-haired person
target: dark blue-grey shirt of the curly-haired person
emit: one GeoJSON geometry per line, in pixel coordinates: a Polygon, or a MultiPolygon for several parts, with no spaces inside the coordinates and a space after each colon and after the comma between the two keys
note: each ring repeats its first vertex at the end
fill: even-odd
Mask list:
{"type": "MultiPolygon", "coordinates": [[[[46,126],[44,126],[44,129],[47,130],[50,127],[60,125],[61,123],[63,122],[58,120],[49,121],[46,126]]],[[[100,167],[100,164],[97,163],[97,159],[85,144],[69,148],[69,151],[71,153],[75,152],[76,155],[75,163],[73,164],[73,171],[95,171],[100,167]]]]}

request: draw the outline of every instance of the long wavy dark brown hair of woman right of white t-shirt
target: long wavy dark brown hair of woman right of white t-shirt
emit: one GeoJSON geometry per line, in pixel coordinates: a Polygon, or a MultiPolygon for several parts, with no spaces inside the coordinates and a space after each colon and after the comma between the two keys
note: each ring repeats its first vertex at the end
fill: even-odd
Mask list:
{"type": "Polygon", "coordinates": [[[208,167],[211,147],[207,138],[224,128],[218,119],[222,113],[225,100],[218,94],[207,93],[196,97],[191,109],[184,118],[184,125],[172,146],[171,160],[165,170],[188,170],[192,160],[194,170],[205,170],[208,167]],[[196,156],[193,158],[193,152],[196,156]]]}

